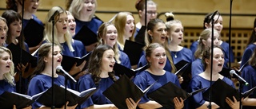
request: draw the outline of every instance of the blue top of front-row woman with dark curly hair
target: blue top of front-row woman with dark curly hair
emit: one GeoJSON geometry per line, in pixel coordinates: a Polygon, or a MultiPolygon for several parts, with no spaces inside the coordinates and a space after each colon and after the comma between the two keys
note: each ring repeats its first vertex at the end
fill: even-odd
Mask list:
{"type": "MultiPolygon", "coordinates": [[[[118,76],[116,76],[118,79],[118,76]]],[[[112,104],[109,99],[106,99],[106,96],[102,94],[111,84],[114,84],[114,80],[110,77],[101,78],[98,86],[94,84],[94,80],[90,74],[82,76],[78,81],[78,91],[85,91],[89,88],[99,88],[98,91],[94,93],[86,102],[82,103],[80,108],[90,107],[94,104],[112,104]]]]}

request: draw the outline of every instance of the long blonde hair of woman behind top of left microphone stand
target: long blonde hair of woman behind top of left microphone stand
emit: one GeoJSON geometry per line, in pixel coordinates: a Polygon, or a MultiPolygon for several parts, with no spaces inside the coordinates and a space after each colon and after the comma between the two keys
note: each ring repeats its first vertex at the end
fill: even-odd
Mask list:
{"type": "MultiPolygon", "coordinates": [[[[58,17],[59,17],[59,14],[67,14],[66,13],[66,10],[63,10],[62,7],[60,6],[54,6],[53,8],[51,8],[47,14],[47,17],[46,17],[46,28],[44,30],[44,36],[45,36],[45,40],[48,41],[48,42],[53,42],[53,39],[52,39],[52,29],[53,29],[53,24],[52,22],[48,22],[51,18],[51,16],[53,16],[53,14],[58,11],[58,15],[54,16],[54,37],[57,37],[58,36],[58,33],[57,33],[57,28],[56,28],[56,22],[58,21],[58,17]]],[[[64,39],[66,41],[66,44],[68,45],[69,49],[71,52],[74,52],[74,49],[72,47],[72,37],[71,37],[71,34],[69,31],[67,31],[65,34],[64,34],[64,39]]],[[[58,38],[54,38],[54,43],[56,43],[58,46],[62,47],[62,45],[59,43],[58,41],[58,38]]],[[[61,48],[63,50],[63,48],[61,48]]]]}

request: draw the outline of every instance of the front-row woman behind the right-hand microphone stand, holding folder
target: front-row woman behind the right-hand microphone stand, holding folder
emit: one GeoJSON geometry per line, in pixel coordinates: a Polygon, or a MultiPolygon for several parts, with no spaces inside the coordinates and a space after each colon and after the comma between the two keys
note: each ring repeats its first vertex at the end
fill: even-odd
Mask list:
{"type": "MultiPolygon", "coordinates": [[[[205,71],[198,74],[198,76],[194,76],[192,80],[190,81],[190,86],[188,88],[189,92],[196,91],[198,89],[202,88],[209,88],[210,87],[210,70],[211,70],[211,60],[213,60],[213,68],[212,68],[212,83],[214,84],[215,81],[218,79],[223,80],[226,82],[226,84],[229,84],[234,88],[234,84],[232,80],[226,78],[225,76],[222,76],[218,72],[222,71],[223,65],[224,65],[224,52],[221,47],[219,46],[214,46],[214,51],[211,52],[211,49],[208,48],[206,49],[203,54],[202,54],[202,62],[205,66],[205,71]],[[213,58],[211,59],[211,53],[213,54],[213,58]]],[[[220,86],[221,87],[221,86],[220,86]]],[[[205,90],[206,91],[206,90],[205,90]]],[[[208,109],[209,102],[208,99],[204,99],[202,97],[202,92],[199,92],[198,94],[192,96],[190,99],[187,101],[186,107],[188,108],[198,108],[198,109],[208,109]]],[[[221,93],[221,92],[220,92],[221,93]]],[[[230,105],[231,108],[233,109],[238,109],[239,108],[239,102],[234,98],[227,98],[226,97],[226,103],[230,105]]],[[[211,103],[212,108],[219,108],[219,106],[212,102],[211,103]]]]}

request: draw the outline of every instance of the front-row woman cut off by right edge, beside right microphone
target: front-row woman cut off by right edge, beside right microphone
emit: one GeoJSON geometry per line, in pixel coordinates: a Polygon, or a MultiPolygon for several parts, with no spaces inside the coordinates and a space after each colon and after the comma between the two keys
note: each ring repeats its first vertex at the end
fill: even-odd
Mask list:
{"type": "MultiPolygon", "coordinates": [[[[244,78],[249,85],[243,86],[242,92],[248,91],[256,86],[256,49],[254,49],[253,55],[250,56],[248,65],[242,69],[242,78],[244,78]]],[[[244,98],[242,101],[243,109],[256,108],[256,91],[253,91],[249,97],[244,98]]]]}

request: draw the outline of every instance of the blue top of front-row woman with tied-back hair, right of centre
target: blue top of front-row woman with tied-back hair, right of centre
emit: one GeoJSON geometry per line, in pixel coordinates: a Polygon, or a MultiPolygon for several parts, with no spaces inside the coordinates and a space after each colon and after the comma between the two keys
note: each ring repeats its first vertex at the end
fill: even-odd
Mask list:
{"type": "MultiPolygon", "coordinates": [[[[172,82],[175,85],[177,85],[179,88],[181,88],[179,82],[178,82],[178,77],[174,75],[174,73],[171,72],[165,72],[164,75],[162,76],[156,76],[151,74],[148,71],[143,71],[141,72],[138,76],[134,77],[134,84],[136,84],[139,88],[142,90],[145,90],[148,88],[151,84],[154,84],[147,93],[151,93],[152,91],[157,90],[158,88],[161,88],[164,84],[167,84],[168,82],[172,82]],[[154,82],[158,80],[156,84],[154,82]]],[[[145,94],[142,96],[141,101],[139,103],[146,103],[149,102],[150,99],[147,97],[145,94]]]]}

